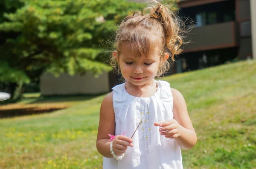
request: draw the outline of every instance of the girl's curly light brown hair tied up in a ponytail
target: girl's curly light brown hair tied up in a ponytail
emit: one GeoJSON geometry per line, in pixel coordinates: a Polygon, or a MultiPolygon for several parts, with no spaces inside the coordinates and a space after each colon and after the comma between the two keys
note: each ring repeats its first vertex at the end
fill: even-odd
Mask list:
{"type": "MultiPolygon", "coordinates": [[[[163,75],[170,68],[168,60],[163,62],[165,52],[171,54],[172,61],[175,60],[176,54],[182,52],[183,31],[180,23],[169,6],[155,0],[151,1],[143,12],[134,12],[133,15],[125,17],[120,24],[115,39],[117,56],[119,57],[123,42],[128,42],[131,53],[135,56],[143,54],[148,57],[150,51],[157,51],[161,58],[157,76],[163,75]],[[158,40],[152,37],[157,37],[158,40]]],[[[118,67],[119,72],[119,65],[114,56],[111,57],[110,63],[114,68],[118,67]]]]}

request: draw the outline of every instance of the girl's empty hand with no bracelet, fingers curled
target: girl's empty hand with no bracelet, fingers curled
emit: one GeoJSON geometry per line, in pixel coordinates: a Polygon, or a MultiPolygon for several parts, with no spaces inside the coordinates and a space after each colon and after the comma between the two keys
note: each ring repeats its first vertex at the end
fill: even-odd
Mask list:
{"type": "Polygon", "coordinates": [[[180,124],[175,120],[159,121],[154,123],[155,126],[161,127],[160,134],[166,138],[178,138],[181,132],[180,124]]]}

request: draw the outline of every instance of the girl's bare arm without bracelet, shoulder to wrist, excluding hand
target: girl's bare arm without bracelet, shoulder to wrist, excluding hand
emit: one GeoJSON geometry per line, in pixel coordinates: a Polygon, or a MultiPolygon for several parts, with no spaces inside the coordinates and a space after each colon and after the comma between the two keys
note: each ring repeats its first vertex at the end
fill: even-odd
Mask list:
{"type": "Polygon", "coordinates": [[[175,138],[183,149],[191,149],[197,142],[197,136],[189,118],[186,101],[182,94],[172,89],[174,119],[180,124],[180,136],[175,138]]]}

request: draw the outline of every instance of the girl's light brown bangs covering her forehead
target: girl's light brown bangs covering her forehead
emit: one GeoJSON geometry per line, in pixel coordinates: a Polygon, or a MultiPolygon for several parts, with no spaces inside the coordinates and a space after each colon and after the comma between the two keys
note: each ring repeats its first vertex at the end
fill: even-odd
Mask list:
{"type": "MultiPolygon", "coordinates": [[[[135,28],[131,31],[122,32],[121,36],[122,43],[126,42],[129,45],[130,52],[135,57],[152,57],[152,54],[162,55],[163,51],[161,49],[161,38],[157,37],[157,34],[154,34],[151,31],[145,31],[144,29],[135,28]],[[122,34],[123,33],[123,34],[122,34]]],[[[121,46],[119,50],[122,52],[121,46]]]]}

